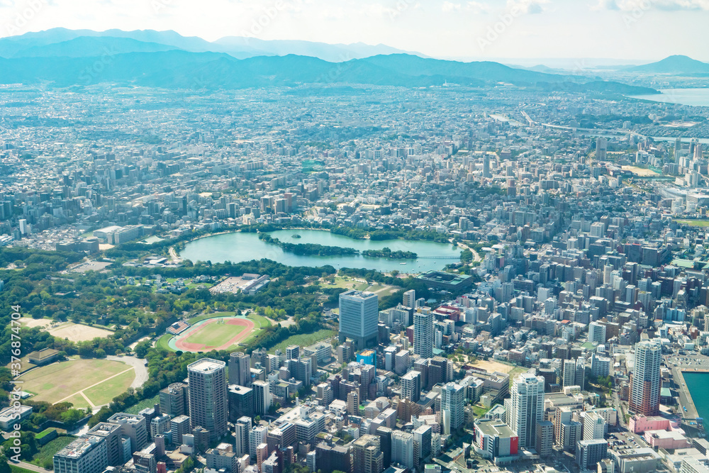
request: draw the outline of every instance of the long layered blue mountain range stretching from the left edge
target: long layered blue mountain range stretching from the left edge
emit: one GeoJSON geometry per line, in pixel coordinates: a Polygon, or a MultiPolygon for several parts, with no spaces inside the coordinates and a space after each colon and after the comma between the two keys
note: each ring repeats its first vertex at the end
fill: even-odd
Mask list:
{"type": "Polygon", "coordinates": [[[398,87],[512,84],[594,94],[655,92],[545,67],[534,69],[491,61],[437,60],[385,45],[239,37],[210,43],[174,31],[54,28],[0,38],[2,84],[113,83],[194,90],[335,83],[398,87]]]}

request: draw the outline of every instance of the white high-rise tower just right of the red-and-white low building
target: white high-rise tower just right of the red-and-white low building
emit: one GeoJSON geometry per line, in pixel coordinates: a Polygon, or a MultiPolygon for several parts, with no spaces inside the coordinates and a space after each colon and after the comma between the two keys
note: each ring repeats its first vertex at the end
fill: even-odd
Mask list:
{"type": "Polygon", "coordinates": [[[520,374],[512,383],[510,409],[507,418],[510,428],[519,436],[522,448],[535,448],[537,423],[544,420],[544,378],[531,373],[520,374]]]}

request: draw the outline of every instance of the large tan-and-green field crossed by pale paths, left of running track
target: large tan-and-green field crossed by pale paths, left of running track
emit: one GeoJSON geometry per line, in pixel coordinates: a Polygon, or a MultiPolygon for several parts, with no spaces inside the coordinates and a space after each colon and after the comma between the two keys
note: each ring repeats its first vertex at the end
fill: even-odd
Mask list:
{"type": "Polygon", "coordinates": [[[85,408],[107,404],[135,379],[133,367],[110,360],[69,360],[30,370],[20,377],[33,401],[71,402],[85,408]]]}

